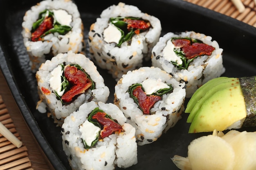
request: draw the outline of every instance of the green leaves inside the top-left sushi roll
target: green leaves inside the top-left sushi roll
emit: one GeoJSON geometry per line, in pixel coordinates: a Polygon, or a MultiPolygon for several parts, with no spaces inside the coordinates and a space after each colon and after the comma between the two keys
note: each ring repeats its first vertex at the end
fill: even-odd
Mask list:
{"type": "Polygon", "coordinates": [[[39,17],[38,17],[39,19],[33,23],[31,32],[34,32],[40,26],[40,24],[42,24],[42,22],[44,21],[44,19],[47,15],[49,17],[54,18],[53,28],[49,29],[48,31],[43,33],[43,35],[41,35],[40,38],[42,38],[45,35],[48,35],[50,33],[55,33],[55,32],[57,32],[61,35],[65,35],[68,31],[70,31],[72,29],[70,26],[61,25],[60,23],[58,23],[54,17],[54,13],[52,11],[49,11],[48,9],[45,9],[44,11],[39,13],[39,17]]]}

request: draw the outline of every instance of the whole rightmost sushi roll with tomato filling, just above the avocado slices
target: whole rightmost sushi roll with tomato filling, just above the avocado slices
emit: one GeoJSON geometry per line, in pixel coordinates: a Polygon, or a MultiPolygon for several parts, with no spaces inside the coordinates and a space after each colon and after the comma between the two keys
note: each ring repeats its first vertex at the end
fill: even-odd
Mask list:
{"type": "Polygon", "coordinates": [[[194,31],[166,33],[152,50],[152,65],[186,82],[189,98],[202,84],[225,72],[222,51],[210,36],[194,31]]]}

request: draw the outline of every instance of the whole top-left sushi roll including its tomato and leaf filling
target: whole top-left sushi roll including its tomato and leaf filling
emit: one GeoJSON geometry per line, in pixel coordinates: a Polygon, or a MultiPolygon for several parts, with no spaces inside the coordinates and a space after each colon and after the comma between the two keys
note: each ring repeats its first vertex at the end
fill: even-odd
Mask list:
{"type": "Polygon", "coordinates": [[[22,28],[32,72],[58,53],[84,51],[83,23],[72,0],[37,3],[25,13],[22,28]]]}

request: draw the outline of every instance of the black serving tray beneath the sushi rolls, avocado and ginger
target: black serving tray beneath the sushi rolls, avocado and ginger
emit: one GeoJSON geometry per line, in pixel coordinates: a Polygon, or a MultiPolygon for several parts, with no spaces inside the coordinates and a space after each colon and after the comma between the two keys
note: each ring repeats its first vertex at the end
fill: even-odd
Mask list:
{"type": "MultiPolygon", "coordinates": [[[[39,2],[39,1],[38,1],[39,2]]],[[[75,1],[84,24],[85,42],[88,52],[88,31],[101,11],[119,1],[75,1]]],[[[199,7],[183,0],[123,0],[144,13],[154,15],[162,23],[162,35],[167,32],[195,31],[216,40],[223,51],[223,76],[244,77],[256,75],[255,49],[256,28],[199,7]]],[[[21,35],[22,18],[35,5],[35,0],[0,1],[0,66],[17,105],[34,134],[38,144],[56,170],[71,170],[61,144],[61,128],[56,127],[52,118],[36,110],[38,93],[35,74],[28,65],[29,58],[21,35]]],[[[110,88],[108,102],[113,102],[115,80],[106,71],[98,68],[110,88]]],[[[188,99],[186,100],[186,103],[188,99]]],[[[186,104],[185,103],[185,104],[186,104]]],[[[138,163],[128,170],[178,170],[171,161],[174,155],[187,156],[187,146],[200,136],[211,133],[188,134],[188,114],[183,114],[175,127],[171,128],[152,144],[138,146],[138,163]]],[[[240,129],[256,131],[255,127],[240,129]]]]}

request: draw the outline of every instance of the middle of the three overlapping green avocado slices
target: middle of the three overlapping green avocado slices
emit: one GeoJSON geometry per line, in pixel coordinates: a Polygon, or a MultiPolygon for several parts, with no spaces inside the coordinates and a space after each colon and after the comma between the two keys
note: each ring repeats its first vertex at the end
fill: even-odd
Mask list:
{"type": "Polygon", "coordinates": [[[217,91],[220,91],[224,88],[238,86],[239,79],[238,78],[228,78],[228,79],[225,79],[225,81],[224,81],[224,79],[222,79],[222,80],[219,80],[218,83],[214,83],[211,85],[212,85],[211,89],[209,89],[209,91],[206,91],[206,93],[204,93],[204,96],[201,99],[199,99],[193,106],[193,109],[191,110],[191,113],[189,114],[189,117],[187,118],[187,121],[186,121],[187,123],[191,123],[193,121],[198,110],[201,108],[201,106],[204,104],[204,102],[209,97],[211,97],[214,93],[216,93],[217,91]],[[228,82],[226,82],[226,81],[228,81],[228,82]]]}

